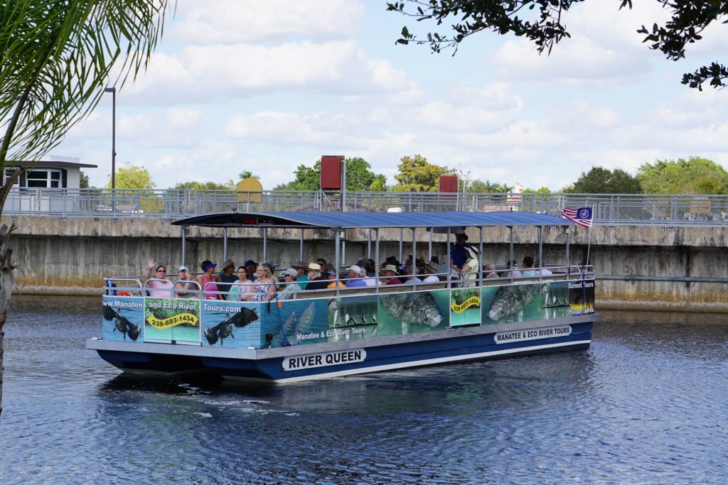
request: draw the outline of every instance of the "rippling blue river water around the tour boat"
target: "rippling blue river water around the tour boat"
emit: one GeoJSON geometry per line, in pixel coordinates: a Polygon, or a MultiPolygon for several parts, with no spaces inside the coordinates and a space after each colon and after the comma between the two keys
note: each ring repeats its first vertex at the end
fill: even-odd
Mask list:
{"type": "Polygon", "coordinates": [[[100,298],[14,297],[0,482],[721,483],[728,316],[602,319],[587,351],[243,386],[119,374],[100,298]]]}

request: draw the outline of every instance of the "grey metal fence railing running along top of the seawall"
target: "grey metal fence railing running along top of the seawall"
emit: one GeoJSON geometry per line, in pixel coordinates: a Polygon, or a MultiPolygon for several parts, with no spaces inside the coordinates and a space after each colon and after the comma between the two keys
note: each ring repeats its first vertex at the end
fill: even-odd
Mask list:
{"type": "Polygon", "coordinates": [[[3,213],[58,217],[165,217],[208,212],[272,211],[524,211],[560,215],[564,207],[593,207],[604,225],[728,225],[728,196],[572,193],[433,193],[316,191],[192,191],[27,189],[10,191],[3,213]]]}

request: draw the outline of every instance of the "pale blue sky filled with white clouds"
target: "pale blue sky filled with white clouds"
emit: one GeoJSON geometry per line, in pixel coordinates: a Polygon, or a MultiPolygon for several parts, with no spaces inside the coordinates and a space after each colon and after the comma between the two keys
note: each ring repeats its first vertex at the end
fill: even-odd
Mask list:
{"type": "MultiPolygon", "coordinates": [[[[464,177],[558,191],[593,166],[703,156],[728,169],[728,91],[680,83],[728,62],[728,27],[711,25],[674,62],[642,43],[658,1],[591,0],[563,17],[571,39],[539,55],[482,32],[452,52],[395,44],[403,25],[434,31],[384,0],[178,0],[148,71],[116,95],[116,167],[146,167],[157,188],[293,180],[322,155],[362,157],[396,183],[421,154],[464,177]]],[[[171,12],[170,12],[171,13],[171,12]]],[[[55,156],[111,174],[111,95],[55,156]]]]}

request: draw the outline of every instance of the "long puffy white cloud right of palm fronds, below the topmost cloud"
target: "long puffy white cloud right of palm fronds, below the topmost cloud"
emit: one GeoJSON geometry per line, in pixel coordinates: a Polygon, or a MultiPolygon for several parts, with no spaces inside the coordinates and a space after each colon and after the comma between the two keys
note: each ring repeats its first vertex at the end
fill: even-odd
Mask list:
{"type": "Polygon", "coordinates": [[[281,91],[409,98],[419,88],[389,61],[369,58],[354,41],[306,41],[186,46],[159,54],[132,95],[145,103],[209,103],[281,91]]]}

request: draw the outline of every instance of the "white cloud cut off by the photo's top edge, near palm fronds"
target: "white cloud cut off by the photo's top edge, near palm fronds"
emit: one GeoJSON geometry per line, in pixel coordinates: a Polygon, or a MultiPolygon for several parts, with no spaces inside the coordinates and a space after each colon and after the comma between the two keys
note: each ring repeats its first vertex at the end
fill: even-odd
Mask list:
{"type": "Polygon", "coordinates": [[[363,23],[355,0],[186,0],[171,26],[174,39],[196,44],[241,44],[306,39],[346,39],[363,23]]]}

